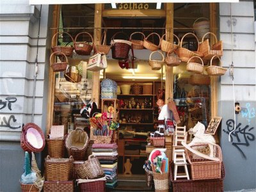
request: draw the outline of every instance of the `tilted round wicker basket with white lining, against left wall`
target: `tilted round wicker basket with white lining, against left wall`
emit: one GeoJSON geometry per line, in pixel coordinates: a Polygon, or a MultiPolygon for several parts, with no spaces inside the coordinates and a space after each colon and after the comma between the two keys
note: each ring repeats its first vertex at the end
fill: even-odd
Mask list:
{"type": "Polygon", "coordinates": [[[20,147],[27,152],[42,152],[45,147],[45,138],[42,129],[33,123],[24,125],[20,134],[20,147]],[[27,134],[33,135],[32,140],[36,138],[38,146],[32,145],[32,142],[30,143],[31,139],[27,137],[27,134]]]}

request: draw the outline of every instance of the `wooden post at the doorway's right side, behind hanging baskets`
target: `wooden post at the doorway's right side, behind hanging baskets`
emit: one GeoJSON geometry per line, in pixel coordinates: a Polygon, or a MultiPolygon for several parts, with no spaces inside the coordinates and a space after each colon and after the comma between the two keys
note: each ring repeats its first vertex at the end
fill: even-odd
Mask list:
{"type": "MultiPolygon", "coordinates": [[[[166,3],[166,39],[173,42],[173,3],[166,3]]],[[[165,103],[173,99],[173,67],[165,67],[165,103]]]]}

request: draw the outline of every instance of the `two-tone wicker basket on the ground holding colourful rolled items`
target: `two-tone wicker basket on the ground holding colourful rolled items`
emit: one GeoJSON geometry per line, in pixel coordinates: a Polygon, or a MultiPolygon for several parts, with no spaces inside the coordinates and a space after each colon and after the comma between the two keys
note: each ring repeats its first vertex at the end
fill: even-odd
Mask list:
{"type": "Polygon", "coordinates": [[[169,191],[169,173],[153,173],[156,192],[169,191]]]}

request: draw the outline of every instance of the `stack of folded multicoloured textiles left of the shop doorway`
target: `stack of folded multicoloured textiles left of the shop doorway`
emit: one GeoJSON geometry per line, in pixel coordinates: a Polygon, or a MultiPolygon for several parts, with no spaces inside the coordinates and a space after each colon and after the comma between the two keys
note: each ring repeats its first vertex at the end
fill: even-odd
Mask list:
{"type": "Polygon", "coordinates": [[[117,145],[111,144],[93,144],[92,154],[99,159],[106,175],[106,187],[115,188],[117,186],[117,145]]]}

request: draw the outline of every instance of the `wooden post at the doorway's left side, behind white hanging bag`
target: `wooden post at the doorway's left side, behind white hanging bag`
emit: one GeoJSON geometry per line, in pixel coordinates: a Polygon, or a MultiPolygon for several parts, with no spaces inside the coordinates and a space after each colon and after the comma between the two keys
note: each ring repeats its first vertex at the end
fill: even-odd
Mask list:
{"type": "MultiPolygon", "coordinates": [[[[95,4],[95,14],[94,14],[94,32],[93,32],[93,42],[94,44],[100,44],[101,38],[101,26],[102,26],[102,4],[95,4]]],[[[99,105],[100,99],[100,72],[93,72],[92,76],[93,90],[92,99],[99,105]]]]}

